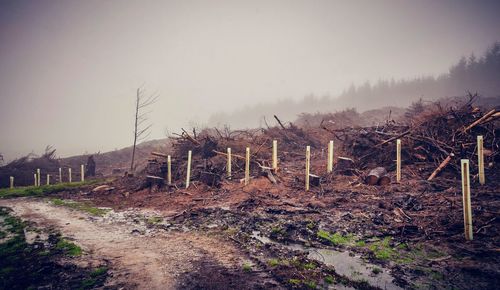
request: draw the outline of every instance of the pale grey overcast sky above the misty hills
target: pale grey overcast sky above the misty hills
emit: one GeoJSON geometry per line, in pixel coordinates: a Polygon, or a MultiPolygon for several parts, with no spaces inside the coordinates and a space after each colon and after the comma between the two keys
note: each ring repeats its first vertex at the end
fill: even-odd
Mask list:
{"type": "Polygon", "coordinates": [[[161,138],[221,110],[438,75],[500,40],[499,11],[500,1],[0,0],[0,153],[128,146],[141,84],[161,95],[161,138]]]}

